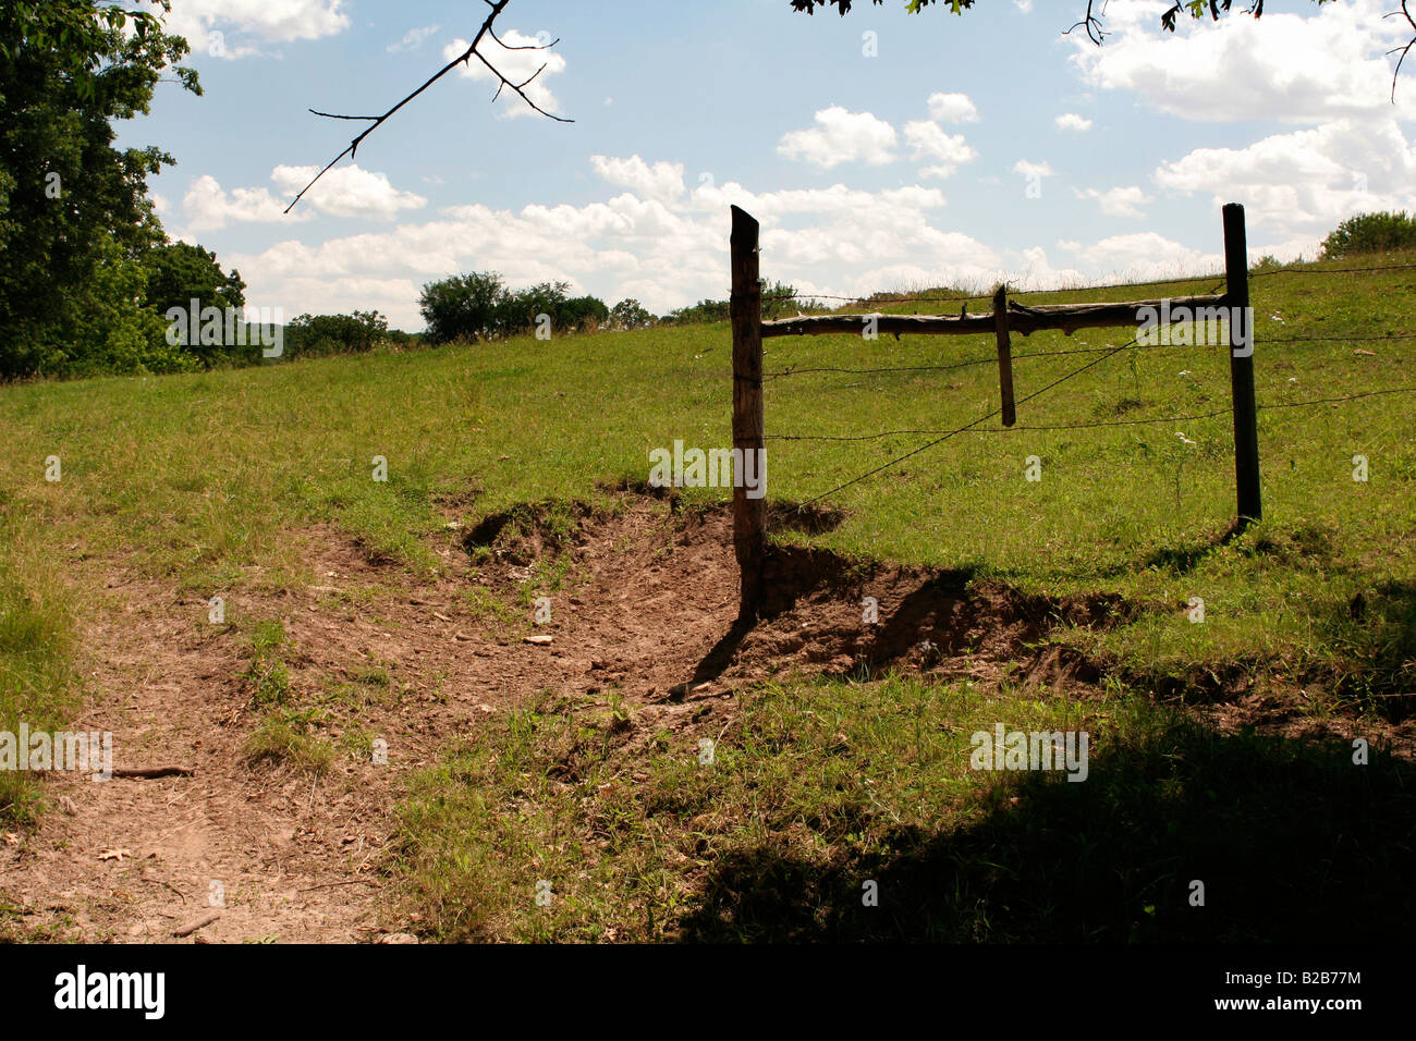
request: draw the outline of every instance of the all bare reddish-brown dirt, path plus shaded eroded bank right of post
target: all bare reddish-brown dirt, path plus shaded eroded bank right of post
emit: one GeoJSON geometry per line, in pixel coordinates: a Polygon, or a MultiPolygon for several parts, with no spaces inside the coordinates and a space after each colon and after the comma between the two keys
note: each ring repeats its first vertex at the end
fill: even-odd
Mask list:
{"type": "Polygon", "coordinates": [[[406,942],[381,871],[411,772],[456,741],[477,741],[545,688],[634,705],[646,732],[726,718],[733,691],[772,673],[884,666],[1096,697],[1085,661],[1038,643],[1058,619],[1107,623],[1126,605],[1054,602],[908,568],[861,571],[792,551],[772,575],[786,595],[752,630],[733,627],[738,574],[726,510],[671,516],[630,499],[585,517],[551,620],[507,625],[467,592],[515,603],[537,533],[497,542],[474,568],[449,533],[443,575],[421,581],[371,561],[351,538],[306,533],[309,582],[275,595],[236,591],[241,618],[280,619],[293,702],[326,712],[321,738],[355,728],[387,742],[387,765],[340,753],[312,775],[248,756],[261,722],[244,678],[249,642],[211,626],[207,603],[108,565],[101,610],[82,623],[89,697],[75,729],[110,731],[119,768],[181,765],[191,776],[92,783],[54,775],[62,809],[0,848],[0,891],[25,935],[86,942],[406,942]],[[875,596],[881,623],[864,625],[875,596]],[[548,646],[523,635],[551,637],[548,646]],[[370,683],[370,677],[375,677],[370,683]],[[212,904],[219,906],[212,906],[212,904]],[[212,912],[190,938],[174,932],[212,912]]]}

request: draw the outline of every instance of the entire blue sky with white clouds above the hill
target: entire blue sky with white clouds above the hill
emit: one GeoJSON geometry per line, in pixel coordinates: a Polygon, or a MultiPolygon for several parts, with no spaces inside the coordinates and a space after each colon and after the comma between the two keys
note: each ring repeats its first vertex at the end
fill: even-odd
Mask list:
{"type": "MultiPolygon", "coordinates": [[[[428,282],[564,280],[654,313],[729,289],[729,205],[762,222],[762,273],[800,292],[1000,280],[1046,289],[1222,268],[1219,208],[1250,255],[1313,256],[1340,221],[1416,211],[1416,65],[1392,103],[1391,0],[1269,0],[1260,20],[1109,0],[980,0],[848,17],[789,0],[511,0],[476,68],[449,74],[310,190],[362,123],[463,51],[477,0],[173,0],[204,96],[157,88],[123,146],[171,238],[246,282],[248,307],[377,309],[423,327],[428,282]]],[[[1236,4],[1238,7],[1238,4],[1236,4]]],[[[1408,27],[1409,28],[1409,27],[1408,27]]]]}

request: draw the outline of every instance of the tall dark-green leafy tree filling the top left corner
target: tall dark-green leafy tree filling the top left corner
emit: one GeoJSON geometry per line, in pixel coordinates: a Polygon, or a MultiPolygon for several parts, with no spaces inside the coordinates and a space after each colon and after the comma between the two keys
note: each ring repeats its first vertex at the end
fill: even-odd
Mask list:
{"type": "MultiPolygon", "coordinates": [[[[112,120],[146,113],[185,54],[153,13],[98,0],[0,7],[0,378],[74,371],[93,347],[93,314],[142,306],[130,265],[164,238],[146,178],[173,159],[115,149],[112,120]],[[135,290],[126,303],[106,296],[119,286],[135,290]]],[[[176,75],[201,93],[195,72],[176,75]]],[[[130,314],[120,324],[152,329],[130,314]]],[[[150,351],[167,364],[160,337],[150,351]]],[[[144,364],[136,344],[120,357],[144,364]]]]}

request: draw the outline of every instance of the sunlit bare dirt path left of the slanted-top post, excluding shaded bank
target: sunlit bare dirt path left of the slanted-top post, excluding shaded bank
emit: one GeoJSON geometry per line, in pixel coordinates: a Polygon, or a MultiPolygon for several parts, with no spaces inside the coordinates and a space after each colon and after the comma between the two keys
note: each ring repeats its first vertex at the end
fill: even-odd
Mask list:
{"type": "MultiPolygon", "coordinates": [[[[229,609],[283,622],[297,704],[387,670],[389,690],[333,722],[329,736],[357,722],[387,741],[388,765],[341,755],[319,778],[248,761],[259,717],[236,632],[210,626],[200,598],[109,574],[105,609],[82,625],[89,698],[72,728],[112,732],[119,768],[194,772],[106,783],[51,775],[62,809],[0,853],[0,888],[23,906],[25,932],[173,942],[174,931],[219,912],[197,942],[402,939],[409,922],[378,867],[411,770],[545,687],[671,697],[729,627],[735,576],[722,533],[684,537],[664,514],[643,504],[582,533],[573,588],[535,627],[551,646],[469,613],[459,550],[450,576],[409,585],[406,571],[371,562],[350,538],[312,533],[309,586],[236,592],[229,609]]],[[[504,595],[518,574],[510,562],[481,569],[504,595]]]]}

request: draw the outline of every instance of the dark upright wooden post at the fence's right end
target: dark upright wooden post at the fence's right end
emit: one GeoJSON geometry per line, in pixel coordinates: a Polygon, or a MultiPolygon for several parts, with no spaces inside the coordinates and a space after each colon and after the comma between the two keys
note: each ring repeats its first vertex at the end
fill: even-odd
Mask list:
{"type": "Polygon", "coordinates": [[[1229,203],[1225,218],[1225,278],[1229,307],[1229,385],[1235,409],[1235,531],[1263,518],[1259,493],[1259,404],[1253,389],[1253,314],[1249,309],[1249,241],[1243,205],[1229,203]]]}

